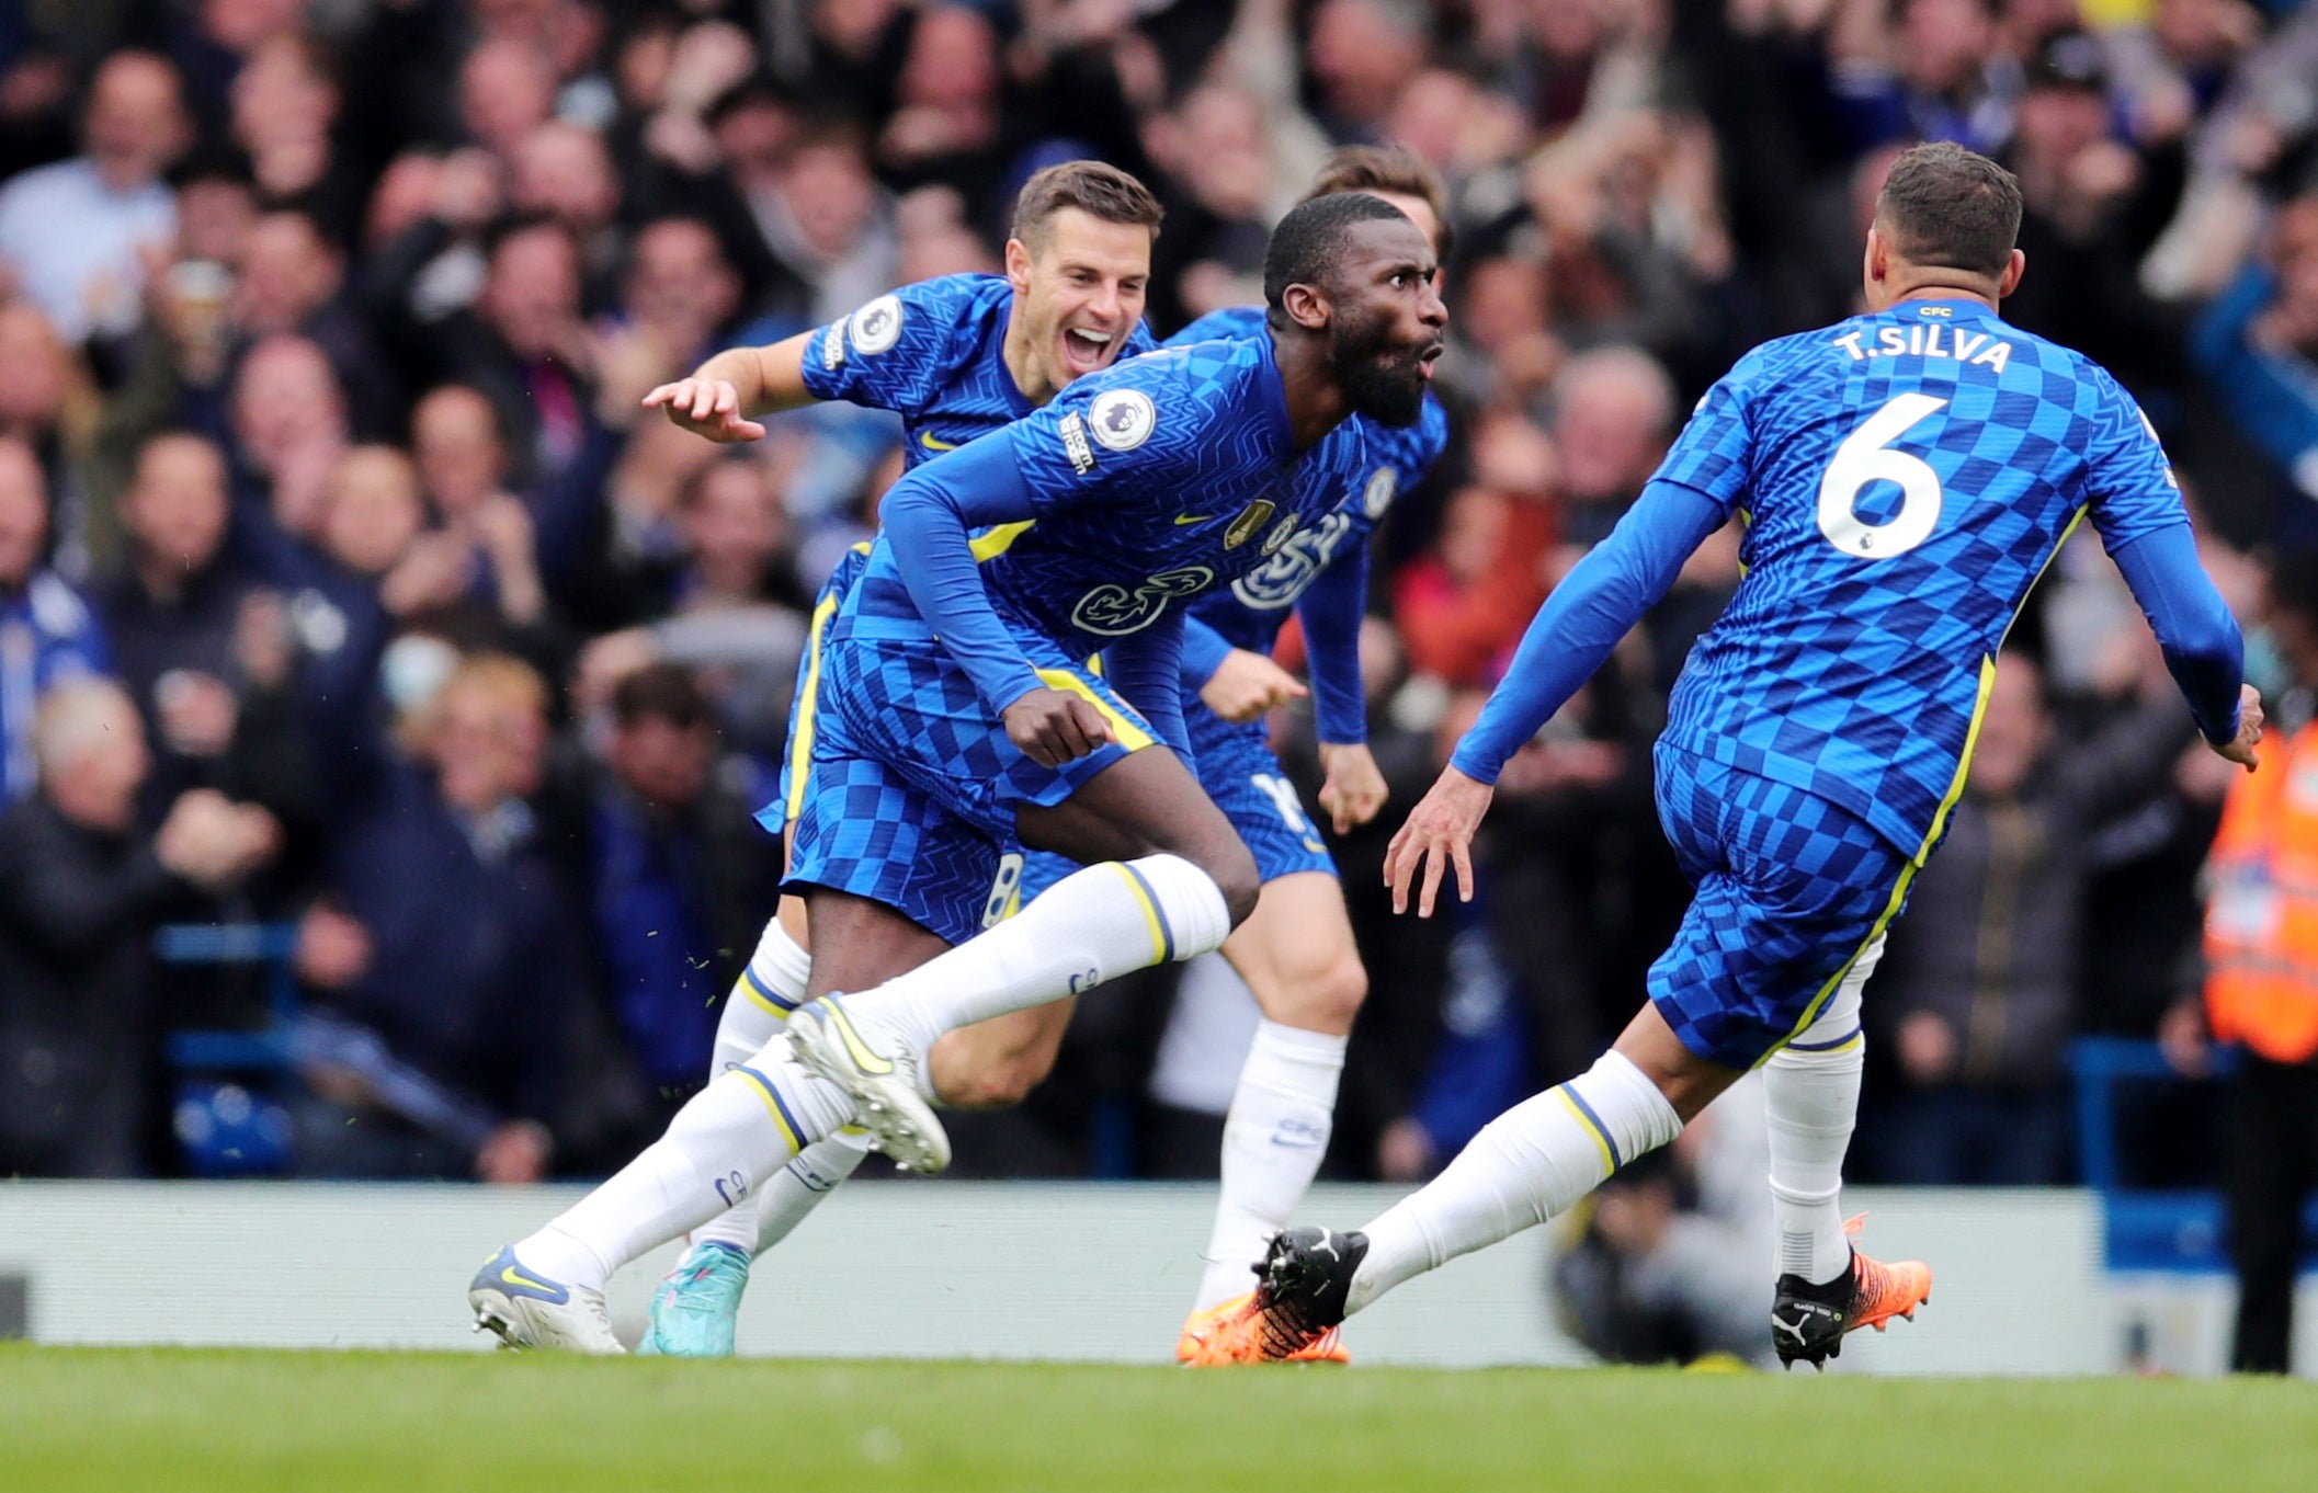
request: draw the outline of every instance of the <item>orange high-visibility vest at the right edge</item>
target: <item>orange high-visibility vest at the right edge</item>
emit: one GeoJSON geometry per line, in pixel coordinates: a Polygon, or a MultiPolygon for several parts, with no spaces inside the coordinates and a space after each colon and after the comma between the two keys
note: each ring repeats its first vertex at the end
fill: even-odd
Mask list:
{"type": "Polygon", "coordinates": [[[2318,723],[2262,753],[2221,809],[2204,904],[2214,1036],[2318,1057],[2318,723]]]}

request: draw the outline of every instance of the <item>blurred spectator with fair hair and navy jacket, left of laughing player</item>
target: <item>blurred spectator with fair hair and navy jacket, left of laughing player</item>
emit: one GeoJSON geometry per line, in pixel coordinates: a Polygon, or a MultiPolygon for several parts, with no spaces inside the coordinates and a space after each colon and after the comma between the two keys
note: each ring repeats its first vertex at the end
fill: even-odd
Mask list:
{"type": "Polygon", "coordinates": [[[338,828],[299,930],[313,1002],[376,1036],[373,1062],[308,1071],[299,1171],[535,1182],[584,999],[573,911],[524,802],[545,772],[547,689],[505,656],[459,661],[403,740],[338,828]],[[413,1078],[440,1113],[401,1099],[413,1078]]]}

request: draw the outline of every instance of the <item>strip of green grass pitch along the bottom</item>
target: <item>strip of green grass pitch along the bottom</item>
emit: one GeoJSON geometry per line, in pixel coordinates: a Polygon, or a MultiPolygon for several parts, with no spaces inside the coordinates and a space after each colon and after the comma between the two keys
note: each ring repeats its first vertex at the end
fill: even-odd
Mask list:
{"type": "Polygon", "coordinates": [[[0,1347],[0,1488],[2318,1488],[2318,1389],[0,1347]]]}

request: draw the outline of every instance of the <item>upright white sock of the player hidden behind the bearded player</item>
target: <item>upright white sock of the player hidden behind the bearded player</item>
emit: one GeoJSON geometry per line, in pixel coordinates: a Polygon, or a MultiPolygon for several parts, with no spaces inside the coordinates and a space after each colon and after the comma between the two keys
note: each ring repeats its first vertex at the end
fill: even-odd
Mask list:
{"type": "Polygon", "coordinates": [[[1259,1022],[1224,1117],[1224,1187],[1194,1310],[1254,1289],[1252,1266],[1303,1201],[1328,1150],[1344,1036],[1259,1022]]]}

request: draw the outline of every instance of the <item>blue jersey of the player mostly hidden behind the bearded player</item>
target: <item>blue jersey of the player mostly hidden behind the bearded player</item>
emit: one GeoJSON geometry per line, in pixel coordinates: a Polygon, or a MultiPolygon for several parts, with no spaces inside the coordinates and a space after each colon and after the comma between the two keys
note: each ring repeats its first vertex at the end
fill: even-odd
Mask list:
{"type": "MultiPolygon", "coordinates": [[[[1166,341],[1180,348],[1196,341],[1263,336],[1263,306],[1210,311],[1166,341]]],[[[1409,427],[1361,420],[1368,440],[1368,471],[1358,480],[1356,503],[1335,508],[1326,519],[1296,533],[1277,554],[1191,605],[1191,614],[1215,628],[1224,642],[1254,654],[1270,654],[1280,642],[1296,600],[1340,554],[1358,554],[1393,498],[1423,480],[1449,447],[1449,410],[1426,394],[1426,410],[1409,427]]]]}

